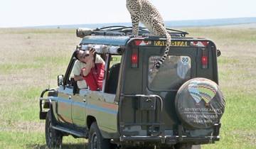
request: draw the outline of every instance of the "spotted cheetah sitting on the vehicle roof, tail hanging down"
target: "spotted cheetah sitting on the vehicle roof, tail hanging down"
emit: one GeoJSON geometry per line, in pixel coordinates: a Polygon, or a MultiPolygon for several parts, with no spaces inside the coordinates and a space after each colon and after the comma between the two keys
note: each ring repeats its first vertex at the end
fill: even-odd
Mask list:
{"type": "Polygon", "coordinates": [[[169,53],[171,46],[171,35],[166,31],[164,20],[156,7],[148,0],[127,0],[127,9],[132,18],[132,36],[139,35],[139,21],[141,21],[153,35],[166,35],[166,49],[164,55],[158,60],[154,67],[159,69],[169,53]]]}

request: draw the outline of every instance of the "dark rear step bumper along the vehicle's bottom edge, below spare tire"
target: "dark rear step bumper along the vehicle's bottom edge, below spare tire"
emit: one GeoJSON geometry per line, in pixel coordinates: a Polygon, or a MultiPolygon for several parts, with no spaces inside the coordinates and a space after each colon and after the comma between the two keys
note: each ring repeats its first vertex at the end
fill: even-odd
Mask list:
{"type": "Polygon", "coordinates": [[[176,143],[214,143],[220,140],[220,136],[205,136],[205,137],[187,137],[187,136],[121,136],[120,141],[136,141],[136,142],[159,142],[166,144],[176,143]]]}

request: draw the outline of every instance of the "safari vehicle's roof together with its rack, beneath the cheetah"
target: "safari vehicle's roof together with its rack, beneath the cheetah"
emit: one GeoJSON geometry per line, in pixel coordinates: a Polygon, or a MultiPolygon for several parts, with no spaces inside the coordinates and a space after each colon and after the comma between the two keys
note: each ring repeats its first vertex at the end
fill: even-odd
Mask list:
{"type": "MultiPolygon", "coordinates": [[[[173,38],[185,38],[186,35],[188,35],[185,31],[178,31],[170,28],[166,28],[166,30],[173,38]]],[[[104,28],[96,28],[95,30],[92,30],[91,35],[82,37],[80,45],[102,44],[124,46],[131,39],[130,35],[132,35],[131,26],[107,26],[104,28]]],[[[139,27],[139,36],[142,38],[149,38],[149,31],[144,27],[139,27]]],[[[154,36],[154,38],[157,37],[154,36]]]]}

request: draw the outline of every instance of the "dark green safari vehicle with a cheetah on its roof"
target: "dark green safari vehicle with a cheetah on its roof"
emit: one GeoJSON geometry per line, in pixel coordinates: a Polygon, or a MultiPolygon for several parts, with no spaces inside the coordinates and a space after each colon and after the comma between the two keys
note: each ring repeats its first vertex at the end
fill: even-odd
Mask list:
{"type": "Polygon", "coordinates": [[[225,109],[218,87],[220,51],[211,40],[167,30],[172,45],[159,69],[154,63],[164,54],[166,38],[146,28],[139,28],[136,38],[126,26],[78,30],[77,48],[95,47],[106,62],[103,87],[78,88],[72,55],[58,87],[41,93],[48,147],[61,145],[68,135],[88,138],[90,149],[201,148],[220,140],[225,109]]]}

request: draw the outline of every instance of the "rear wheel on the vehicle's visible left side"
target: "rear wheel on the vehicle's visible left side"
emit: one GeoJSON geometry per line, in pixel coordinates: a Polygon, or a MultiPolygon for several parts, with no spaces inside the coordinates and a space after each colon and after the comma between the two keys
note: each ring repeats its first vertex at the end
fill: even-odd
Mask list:
{"type": "Polygon", "coordinates": [[[111,149],[110,140],[102,137],[96,122],[90,126],[88,149],[111,149]]]}

